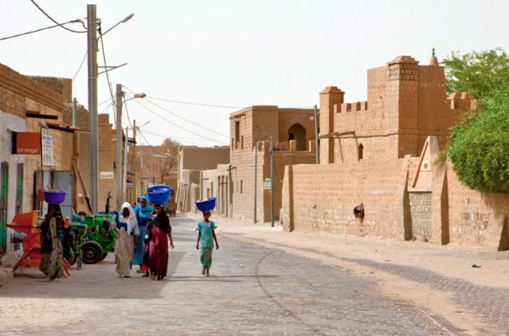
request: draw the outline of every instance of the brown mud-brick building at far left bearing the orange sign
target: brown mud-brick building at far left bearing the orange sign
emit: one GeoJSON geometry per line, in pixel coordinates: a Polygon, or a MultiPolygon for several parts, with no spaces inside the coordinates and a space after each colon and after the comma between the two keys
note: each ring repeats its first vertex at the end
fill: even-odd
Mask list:
{"type": "MultiPolygon", "coordinates": [[[[13,244],[13,230],[7,229],[17,213],[37,207],[36,171],[68,170],[70,158],[63,144],[72,143],[70,133],[50,130],[53,138],[53,166],[41,167],[41,155],[12,153],[15,132],[39,133],[46,123],[61,123],[70,102],[70,79],[29,77],[0,64],[0,247],[10,261],[20,257],[19,244],[13,244]],[[31,114],[52,115],[55,119],[34,118],[31,114]]],[[[36,137],[37,142],[37,137],[36,137]]],[[[69,155],[70,156],[70,155],[69,155]]]]}

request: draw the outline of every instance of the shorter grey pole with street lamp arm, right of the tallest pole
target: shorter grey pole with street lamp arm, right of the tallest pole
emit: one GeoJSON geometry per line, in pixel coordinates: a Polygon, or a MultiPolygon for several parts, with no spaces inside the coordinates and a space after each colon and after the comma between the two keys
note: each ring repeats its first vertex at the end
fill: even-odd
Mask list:
{"type": "MultiPolygon", "coordinates": [[[[127,19],[127,17],[126,17],[127,19]]],[[[126,20],[124,19],[124,20],[126,20]]],[[[118,172],[122,171],[122,105],[126,104],[128,100],[135,98],[145,98],[146,93],[137,93],[135,96],[129,99],[123,99],[122,84],[116,84],[116,208],[120,210],[122,205],[121,195],[123,200],[127,199],[127,167],[128,167],[128,129],[126,128],[126,148],[124,153],[124,171],[123,178],[121,179],[118,172]],[[123,182],[123,183],[122,183],[123,182]],[[122,192],[123,185],[123,192],[122,192]]],[[[133,134],[136,135],[136,131],[133,130],[133,134]]],[[[136,137],[135,137],[136,139],[136,137]]]]}

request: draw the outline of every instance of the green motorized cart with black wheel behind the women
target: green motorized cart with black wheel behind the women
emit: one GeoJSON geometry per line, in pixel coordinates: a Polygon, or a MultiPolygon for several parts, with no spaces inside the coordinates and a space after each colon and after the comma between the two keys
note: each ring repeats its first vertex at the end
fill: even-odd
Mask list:
{"type": "Polygon", "coordinates": [[[86,234],[82,244],[83,262],[96,264],[106,258],[108,252],[114,252],[115,229],[112,229],[114,217],[107,214],[94,214],[85,217],[86,234]]]}

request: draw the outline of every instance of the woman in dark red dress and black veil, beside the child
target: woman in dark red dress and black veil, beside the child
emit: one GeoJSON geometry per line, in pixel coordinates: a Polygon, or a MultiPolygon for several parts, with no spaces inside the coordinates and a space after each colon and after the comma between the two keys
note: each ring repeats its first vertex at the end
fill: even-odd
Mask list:
{"type": "Polygon", "coordinates": [[[172,226],[162,204],[154,204],[155,217],[151,219],[146,229],[145,243],[148,245],[145,261],[150,267],[152,280],[162,280],[168,270],[168,238],[169,246],[175,247],[172,238],[172,226]]]}

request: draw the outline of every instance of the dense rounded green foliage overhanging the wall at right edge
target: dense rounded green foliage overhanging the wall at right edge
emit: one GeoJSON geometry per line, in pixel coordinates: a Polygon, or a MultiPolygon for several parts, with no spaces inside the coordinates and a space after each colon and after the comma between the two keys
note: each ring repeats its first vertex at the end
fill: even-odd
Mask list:
{"type": "Polygon", "coordinates": [[[509,192],[509,88],[483,93],[478,111],[452,128],[448,155],[459,181],[486,192],[509,192]]]}

